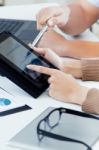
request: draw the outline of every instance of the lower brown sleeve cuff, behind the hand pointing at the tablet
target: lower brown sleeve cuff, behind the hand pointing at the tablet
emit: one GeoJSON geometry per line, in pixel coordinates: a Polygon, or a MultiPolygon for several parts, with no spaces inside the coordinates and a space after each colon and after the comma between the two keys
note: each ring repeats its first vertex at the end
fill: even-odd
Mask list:
{"type": "Polygon", "coordinates": [[[87,98],[82,104],[82,110],[99,115],[99,89],[93,88],[89,90],[87,98]]]}

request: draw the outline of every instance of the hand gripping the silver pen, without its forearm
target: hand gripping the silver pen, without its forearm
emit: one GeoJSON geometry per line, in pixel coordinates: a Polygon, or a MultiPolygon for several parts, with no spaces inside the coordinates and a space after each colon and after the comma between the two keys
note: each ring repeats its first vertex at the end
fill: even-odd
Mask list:
{"type": "Polygon", "coordinates": [[[49,27],[58,27],[65,26],[68,22],[70,15],[70,9],[68,7],[62,6],[53,6],[46,7],[39,11],[37,14],[37,28],[41,29],[46,23],[49,27]]]}

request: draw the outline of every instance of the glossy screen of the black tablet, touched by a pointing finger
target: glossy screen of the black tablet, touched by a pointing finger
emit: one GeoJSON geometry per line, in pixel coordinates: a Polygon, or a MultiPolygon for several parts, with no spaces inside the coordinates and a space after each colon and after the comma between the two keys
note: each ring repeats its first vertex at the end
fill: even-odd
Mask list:
{"type": "Polygon", "coordinates": [[[25,46],[20,44],[14,38],[9,36],[0,43],[0,53],[14,65],[16,65],[21,71],[24,71],[33,79],[38,79],[41,73],[30,71],[26,68],[28,64],[36,64],[49,67],[39,56],[32,53],[25,46]]]}

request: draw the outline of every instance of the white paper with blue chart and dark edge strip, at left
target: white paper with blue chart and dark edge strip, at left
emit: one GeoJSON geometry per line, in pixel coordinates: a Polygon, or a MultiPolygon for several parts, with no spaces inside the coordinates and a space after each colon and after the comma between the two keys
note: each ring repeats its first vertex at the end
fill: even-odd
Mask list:
{"type": "Polygon", "coordinates": [[[0,88],[0,116],[5,116],[26,109],[31,108],[23,102],[20,102],[17,97],[0,88]]]}

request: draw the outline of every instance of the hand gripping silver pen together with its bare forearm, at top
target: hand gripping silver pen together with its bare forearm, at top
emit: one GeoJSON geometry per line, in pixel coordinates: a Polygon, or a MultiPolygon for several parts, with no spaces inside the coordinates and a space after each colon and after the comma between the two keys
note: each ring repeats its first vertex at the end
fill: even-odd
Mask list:
{"type": "Polygon", "coordinates": [[[87,0],[79,0],[69,5],[41,9],[37,14],[37,28],[41,29],[45,24],[49,27],[57,25],[67,34],[78,35],[95,23],[98,18],[98,7],[87,0]]]}

